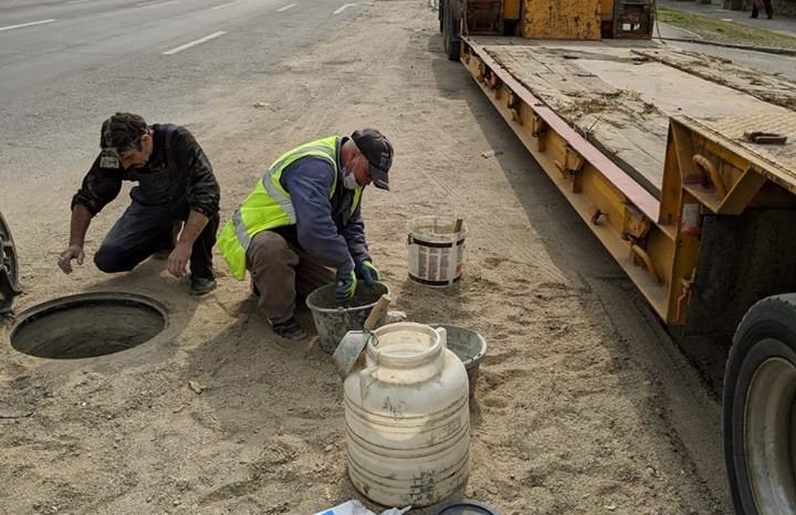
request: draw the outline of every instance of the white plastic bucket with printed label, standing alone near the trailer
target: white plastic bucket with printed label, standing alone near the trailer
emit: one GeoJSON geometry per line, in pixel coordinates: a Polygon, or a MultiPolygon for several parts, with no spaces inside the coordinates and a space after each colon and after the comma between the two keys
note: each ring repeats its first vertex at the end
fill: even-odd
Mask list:
{"type": "Polygon", "coordinates": [[[459,281],[467,227],[453,217],[417,217],[407,222],[409,278],[444,287],[459,281]]]}

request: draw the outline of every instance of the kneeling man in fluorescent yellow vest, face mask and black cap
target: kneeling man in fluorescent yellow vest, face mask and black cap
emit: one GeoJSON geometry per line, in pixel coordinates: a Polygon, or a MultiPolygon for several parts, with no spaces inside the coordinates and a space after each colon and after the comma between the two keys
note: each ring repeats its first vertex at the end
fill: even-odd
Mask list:
{"type": "Polygon", "coordinates": [[[391,165],[392,145],[376,129],[310,141],[276,159],[224,225],[221,253],[239,281],[251,272],[260,309],[279,336],[306,336],[293,316],[296,292],[335,281],[343,304],[357,277],[378,280],[360,201],[371,182],[389,190],[391,165]]]}

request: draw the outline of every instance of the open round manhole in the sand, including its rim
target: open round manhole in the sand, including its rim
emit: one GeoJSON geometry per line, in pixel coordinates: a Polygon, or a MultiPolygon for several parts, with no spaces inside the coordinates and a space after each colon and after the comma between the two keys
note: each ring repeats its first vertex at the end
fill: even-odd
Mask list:
{"type": "Polygon", "coordinates": [[[166,322],[166,309],[142,295],[74,295],[22,313],[11,332],[11,346],[39,358],[93,358],[148,341],[166,322]]]}

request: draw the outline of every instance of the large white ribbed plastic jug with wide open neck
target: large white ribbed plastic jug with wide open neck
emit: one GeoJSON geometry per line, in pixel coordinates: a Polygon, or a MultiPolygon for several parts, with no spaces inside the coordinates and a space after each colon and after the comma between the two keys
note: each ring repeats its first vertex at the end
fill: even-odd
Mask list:
{"type": "Polygon", "coordinates": [[[444,328],[386,325],[365,353],[344,383],[354,486],[387,506],[446,498],[468,479],[470,410],[467,370],[444,328]]]}

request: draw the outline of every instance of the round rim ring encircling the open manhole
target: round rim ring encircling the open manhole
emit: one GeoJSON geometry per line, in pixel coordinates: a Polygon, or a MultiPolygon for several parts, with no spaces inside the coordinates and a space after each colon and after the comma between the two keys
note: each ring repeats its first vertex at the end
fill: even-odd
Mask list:
{"type": "MultiPolygon", "coordinates": [[[[74,295],[66,295],[63,297],[56,297],[50,301],[45,301],[41,304],[33,305],[27,309],[24,309],[22,313],[20,313],[15,317],[15,322],[13,324],[13,328],[11,329],[11,334],[9,335],[9,340],[11,343],[11,346],[17,350],[18,353],[25,354],[31,357],[44,357],[44,356],[36,356],[34,354],[27,353],[14,344],[19,332],[22,329],[29,327],[31,324],[34,324],[39,319],[44,319],[49,315],[55,315],[60,312],[69,311],[69,309],[75,309],[81,307],[91,307],[94,304],[107,304],[107,305],[125,305],[133,308],[139,308],[139,309],[149,309],[153,315],[156,315],[159,317],[159,320],[161,322],[161,326],[159,330],[154,334],[149,339],[146,341],[143,341],[140,344],[135,345],[134,347],[137,347],[139,345],[149,343],[160,336],[168,329],[169,327],[169,309],[166,307],[165,304],[161,302],[139,294],[139,293],[133,293],[133,292],[124,292],[124,291],[97,291],[97,292],[86,292],[86,293],[78,293],[74,295]]],[[[107,354],[100,354],[96,356],[85,356],[85,357],[78,357],[78,358],[72,358],[72,359],[90,359],[95,357],[102,357],[106,355],[113,355],[115,353],[107,353],[107,354]]],[[[56,358],[57,359],[57,358],[56,358]]]]}

